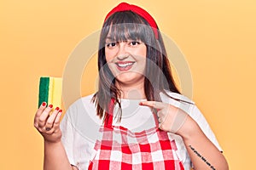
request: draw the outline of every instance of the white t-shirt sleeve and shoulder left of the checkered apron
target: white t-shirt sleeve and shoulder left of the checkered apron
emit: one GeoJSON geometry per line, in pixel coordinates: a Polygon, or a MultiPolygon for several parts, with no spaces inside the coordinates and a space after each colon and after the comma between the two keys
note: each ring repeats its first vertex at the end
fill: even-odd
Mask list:
{"type": "Polygon", "coordinates": [[[95,153],[97,127],[101,123],[90,99],[88,96],[75,101],[61,120],[61,142],[70,164],[79,170],[88,169],[90,159],[95,153]],[[95,120],[92,120],[93,118],[95,120]]]}

